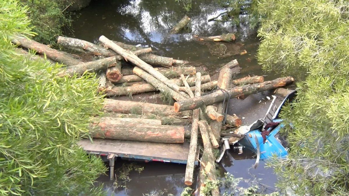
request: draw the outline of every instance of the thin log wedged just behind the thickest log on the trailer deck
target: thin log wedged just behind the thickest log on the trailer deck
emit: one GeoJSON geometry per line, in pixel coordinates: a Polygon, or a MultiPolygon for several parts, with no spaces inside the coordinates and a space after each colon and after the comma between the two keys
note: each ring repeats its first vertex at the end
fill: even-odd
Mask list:
{"type": "Polygon", "coordinates": [[[121,113],[104,113],[103,116],[112,118],[131,118],[131,119],[157,119],[161,120],[162,125],[186,126],[192,123],[190,118],[179,118],[176,116],[160,116],[150,113],[143,114],[121,114],[121,113]]]}

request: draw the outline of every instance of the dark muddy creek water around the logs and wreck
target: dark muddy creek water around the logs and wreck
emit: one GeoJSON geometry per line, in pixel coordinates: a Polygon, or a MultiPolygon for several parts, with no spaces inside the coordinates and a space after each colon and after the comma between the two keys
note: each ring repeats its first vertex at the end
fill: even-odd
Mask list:
{"type": "MultiPolygon", "coordinates": [[[[128,44],[150,46],[156,54],[204,65],[210,75],[215,75],[213,77],[217,77],[217,68],[233,59],[237,59],[242,67],[236,77],[266,75],[255,59],[259,44],[255,30],[251,30],[245,24],[236,27],[230,23],[207,22],[224,11],[209,0],[196,0],[190,12],[185,12],[183,5],[179,5],[175,0],[96,0],[92,1],[89,7],[76,13],[79,17],[73,22],[73,32],[68,31],[66,34],[94,43],[99,36],[104,35],[128,44]],[[168,35],[169,28],[184,14],[191,17],[191,28],[179,35],[168,35]],[[193,35],[212,36],[229,32],[236,33],[236,42],[198,43],[192,39],[193,35]],[[239,55],[243,50],[246,50],[247,54],[239,55]]],[[[277,75],[268,73],[266,80],[276,77],[277,75]]],[[[270,103],[266,96],[268,93],[251,95],[244,100],[231,99],[228,113],[239,115],[243,118],[243,124],[248,125],[264,116],[270,103]]],[[[133,98],[139,101],[142,96],[133,98]]],[[[264,167],[263,161],[257,169],[251,169],[255,161],[253,155],[247,150],[242,154],[234,150],[228,151],[219,165],[221,174],[229,172],[245,179],[246,182],[239,184],[243,187],[249,187],[254,179],[261,179],[260,182],[265,184],[266,188],[262,188],[266,193],[275,190],[276,176],[272,169],[264,167]]],[[[122,163],[127,161],[118,160],[116,168],[122,163]]],[[[113,181],[110,181],[107,175],[101,176],[97,184],[103,182],[109,195],[179,195],[185,187],[185,165],[155,162],[139,164],[144,167],[144,171],[141,174],[131,172],[129,176],[132,180],[127,183],[126,189],[114,190],[113,181]]]]}

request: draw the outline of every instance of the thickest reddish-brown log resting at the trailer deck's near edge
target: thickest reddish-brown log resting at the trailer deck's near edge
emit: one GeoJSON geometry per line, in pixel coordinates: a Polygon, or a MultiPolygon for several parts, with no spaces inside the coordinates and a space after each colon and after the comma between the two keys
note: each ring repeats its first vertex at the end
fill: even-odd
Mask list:
{"type": "MultiPolygon", "coordinates": [[[[184,127],[122,122],[118,118],[102,117],[91,125],[92,137],[157,143],[183,143],[184,127]]],[[[140,119],[144,120],[144,119],[140,119]]],[[[160,121],[161,123],[161,121],[160,121]]]]}

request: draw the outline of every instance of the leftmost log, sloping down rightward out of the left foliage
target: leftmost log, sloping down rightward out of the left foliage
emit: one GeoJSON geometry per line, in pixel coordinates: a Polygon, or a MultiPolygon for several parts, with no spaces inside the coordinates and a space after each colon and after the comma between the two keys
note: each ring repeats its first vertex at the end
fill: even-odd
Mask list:
{"type": "Polygon", "coordinates": [[[30,40],[27,38],[17,37],[12,39],[12,43],[31,50],[35,50],[38,54],[46,54],[47,58],[50,58],[56,62],[63,63],[67,66],[82,63],[82,61],[74,59],[71,54],[52,49],[47,45],[40,44],[38,42],[35,42],[34,40],[30,40]]]}

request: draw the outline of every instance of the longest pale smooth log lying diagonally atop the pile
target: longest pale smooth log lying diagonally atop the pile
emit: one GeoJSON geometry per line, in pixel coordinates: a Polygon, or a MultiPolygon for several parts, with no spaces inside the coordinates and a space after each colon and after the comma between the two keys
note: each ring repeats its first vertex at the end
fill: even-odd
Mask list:
{"type": "MultiPolygon", "coordinates": [[[[164,75],[162,75],[159,71],[155,70],[153,67],[148,65],[146,62],[142,61],[141,59],[138,58],[138,56],[134,55],[132,52],[128,52],[118,46],[117,44],[113,43],[111,40],[108,38],[101,36],[99,37],[99,41],[101,41],[104,45],[108,46],[121,56],[123,56],[126,60],[131,61],[134,63],[136,66],[146,70],[151,76],[154,76],[156,79],[159,81],[163,82],[166,84],[169,88],[173,89],[174,91],[179,91],[179,86],[171,82],[168,78],[166,78],[164,75]]],[[[149,81],[147,81],[149,82],[149,81]]]]}

